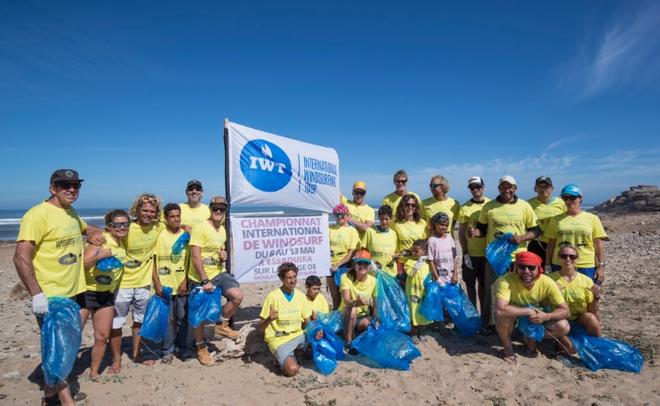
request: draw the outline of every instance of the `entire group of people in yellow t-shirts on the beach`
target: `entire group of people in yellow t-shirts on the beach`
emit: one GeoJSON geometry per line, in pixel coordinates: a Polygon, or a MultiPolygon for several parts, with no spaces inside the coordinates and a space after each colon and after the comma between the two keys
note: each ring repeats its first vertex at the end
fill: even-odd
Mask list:
{"type": "MultiPolygon", "coordinates": [[[[419,312],[428,275],[440,284],[463,282],[470,300],[479,306],[482,334],[495,331],[504,347],[503,357],[515,362],[511,333],[517,318],[545,323],[548,337],[574,351],[566,337],[570,322],[582,324],[589,334],[600,335],[598,314],[600,284],[604,280],[602,241],[607,239],[597,216],[581,208],[582,191],[574,184],[553,196],[552,180],[536,179],[537,196],[519,199],[516,180],[499,180],[494,200],[485,196],[478,176],[468,179],[472,198],[460,205],[449,197],[449,182],[433,176],[431,196],[422,200],[408,191],[408,176],[399,170],[393,177],[395,190],[385,196],[377,210],[365,203],[366,184],[355,182],[352,199],[344,196],[333,209],[336,223],[330,227],[331,275],[326,279],[332,299],[321,291],[321,280],[308,277],[306,292],[298,291],[298,268],[284,263],[278,268],[282,286],[265,299],[260,329],[276,362],[287,376],[298,372],[295,351],[305,348],[303,327],[321,313],[339,310],[344,317],[346,350],[355,335],[378,321],[376,278],[384,272],[397,278],[411,310],[413,340],[424,340],[423,327],[430,324],[419,312]],[[458,257],[453,238],[458,223],[458,257]],[[503,233],[512,233],[519,244],[511,272],[497,278],[485,259],[486,246],[503,233]]],[[[227,201],[216,196],[202,203],[200,181],[186,185],[185,203],[162,207],[158,196],[141,194],[128,212],[115,209],[105,215],[105,228],[88,225],[72,204],[78,199],[83,179],[72,169],[55,171],[50,179],[50,198],[32,207],[21,220],[14,263],[18,275],[32,295],[32,311],[41,325],[48,312],[48,298],[64,296],[80,305],[83,326],[89,317],[94,329],[90,378],[97,379],[101,361],[110,343],[112,365],[121,370],[122,326],[132,312],[132,359],[146,365],[142,347],[170,363],[175,351],[194,348],[202,365],[211,365],[204,341],[204,324],[187,324],[187,294],[193,289],[207,292],[220,288],[226,303],[215,325],[216,335],[236,339],[239,332],[230,319],[243,299],[236,279],[225,262],[225,213],[227,201]],[[173,251],[177,241],[189,235],[186,249],[173,251]],[[85,246],[83,235],[87,237],[85,246]],[[107,269],[101,260],[119,263],[107,269]],[[142,340],[139,330],[152,294],[171,289],[171,320],[165,340],[142,340]],[[192,342],[194,340],[194,342],[192,342]]],[[[319,333],[322,334],[322,333],[319,333]]],[[[534,342],[526,341],[530,354],[534,342]]],[[[73,404],[82,393],[72,395],[66,383],[45,387],[44,403],[73,404]]]]}

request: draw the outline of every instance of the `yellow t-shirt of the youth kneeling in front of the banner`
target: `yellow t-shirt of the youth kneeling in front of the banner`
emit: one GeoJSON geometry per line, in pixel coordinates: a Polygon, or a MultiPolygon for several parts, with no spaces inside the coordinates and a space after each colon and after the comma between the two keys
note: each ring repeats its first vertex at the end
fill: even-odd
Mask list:
{"type": "Polygon", "coordinates": [[[271,306],[277,312],[277,319],[268,324],[264,332],[270,352],[274,353],[280,345],[303,334],[303,322],[311,315],[309,308],[305,306],[306,300],[305,294],[298,289],[293,290],[291,301],[284,296],[282,288],[277,288],[266,296],[259,317],[267,319],[271,306]]]}

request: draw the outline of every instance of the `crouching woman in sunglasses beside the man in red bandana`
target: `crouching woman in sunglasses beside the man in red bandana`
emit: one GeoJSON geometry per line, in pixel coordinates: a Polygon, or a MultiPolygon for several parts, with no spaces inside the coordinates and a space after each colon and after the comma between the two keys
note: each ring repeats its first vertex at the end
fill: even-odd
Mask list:
{"type": "MultiPolygon", "coordinates": [[[[559,286],[559,291],[566,300],[571,316],[571,323],[577,322],[587,333],[600,337],[603,335],[598,316],[598,301],[600,286],[575,269],[579,257],[578,250],[570,244],[562,245],[558,254],[561,270],[552,272],[550,276],[559,286]]],[[[560,339],[566,350],[573,354],[575,350],[567,337],[560,339]]]]}

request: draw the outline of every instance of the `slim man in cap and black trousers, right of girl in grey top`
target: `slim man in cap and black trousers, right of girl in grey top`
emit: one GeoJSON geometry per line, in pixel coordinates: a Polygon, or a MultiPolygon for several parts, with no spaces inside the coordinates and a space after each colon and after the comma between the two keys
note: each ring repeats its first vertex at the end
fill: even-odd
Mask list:
{"type": "Polygon", "coordinates": [[[484,327],[488,326],[490,314],[485,305],[485,275],[486,275],[486,238],[472,237],[469,231],[477,226],[479,214],[484,205],[490,201],[484,196],[484,181],[480,176],[471,176],[468,179],[468,189],[472,198],[463,203],[458,212],[458,240],[463,250],[463,281],[467,295],[475,306],[479,298],[479,311],[484,327]]]}

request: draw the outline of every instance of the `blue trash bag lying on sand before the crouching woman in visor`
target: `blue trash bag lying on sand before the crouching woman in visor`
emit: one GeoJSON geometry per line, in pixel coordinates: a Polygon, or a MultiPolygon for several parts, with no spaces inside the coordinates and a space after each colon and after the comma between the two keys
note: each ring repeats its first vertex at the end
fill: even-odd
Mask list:
{"type": "Polygon", "coordinates": [[[408,371],[410,363],[422,355],[409,335],[383,326],[376,328],[374,323],[351,345],[381,367],[400,371],[408,371]]]}

